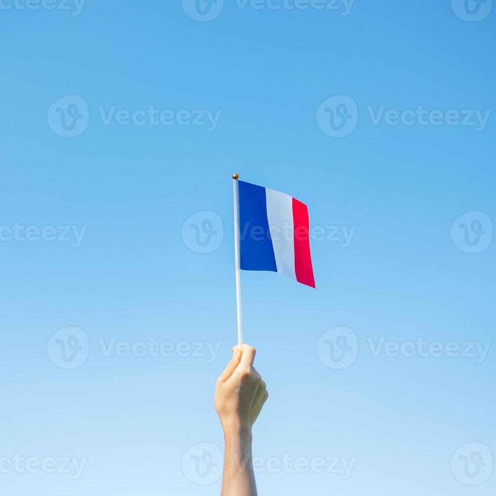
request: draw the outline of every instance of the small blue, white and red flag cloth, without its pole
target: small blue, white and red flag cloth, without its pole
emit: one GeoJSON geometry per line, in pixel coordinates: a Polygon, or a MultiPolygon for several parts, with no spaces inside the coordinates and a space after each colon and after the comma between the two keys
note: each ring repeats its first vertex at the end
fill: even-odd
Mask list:
{"type": "Polygon", "coordinates": [[[238,182],[242,270],[270,270],[315,287],[307,205],[290,195],[238,182]]]}

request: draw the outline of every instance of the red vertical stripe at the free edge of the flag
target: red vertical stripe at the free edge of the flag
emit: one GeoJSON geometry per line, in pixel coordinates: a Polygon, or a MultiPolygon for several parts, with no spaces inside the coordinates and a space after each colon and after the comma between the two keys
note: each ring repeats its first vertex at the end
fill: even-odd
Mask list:
{"type": "Polygon", "coordinates": [[[315,287],[310,239],[308,235],[308,209],[305,203],[293,198],[293,222],[295,225],[295,273],[296,280],[307,286],[315,287]]]}

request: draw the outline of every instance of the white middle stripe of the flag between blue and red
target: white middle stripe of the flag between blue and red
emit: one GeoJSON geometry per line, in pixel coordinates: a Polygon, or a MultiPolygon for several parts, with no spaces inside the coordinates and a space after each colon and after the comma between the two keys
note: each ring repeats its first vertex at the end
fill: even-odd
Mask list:
{"type": "Polygon", "coordinates": [[[277,272],[296,280],[293,197],[268,188],[265,194],[277,272]]]}

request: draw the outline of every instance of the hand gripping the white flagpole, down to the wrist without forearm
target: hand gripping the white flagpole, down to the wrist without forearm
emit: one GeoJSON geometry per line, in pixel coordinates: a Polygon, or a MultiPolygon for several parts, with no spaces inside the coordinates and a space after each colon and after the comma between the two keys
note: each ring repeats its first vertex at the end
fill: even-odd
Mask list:
{"type": "Polygon", "coordinates": [[[246,432],[252,426],[267,401],[269,393],[253,361],[255,349],[248,345],[232,349],[233,356],[217,380],[215,409],[224,432],[246,432]]]}

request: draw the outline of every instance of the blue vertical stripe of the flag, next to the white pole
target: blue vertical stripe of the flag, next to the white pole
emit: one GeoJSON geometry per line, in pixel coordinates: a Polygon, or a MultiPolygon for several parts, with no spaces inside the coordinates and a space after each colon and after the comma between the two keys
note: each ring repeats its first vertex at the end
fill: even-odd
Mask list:
{"type": "Polygon", "coordinates": [[[277,272],[267,220],[265,188],[238,181],[240,268],[277,272]]]}

